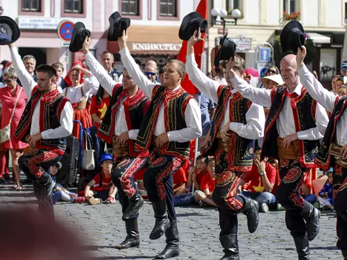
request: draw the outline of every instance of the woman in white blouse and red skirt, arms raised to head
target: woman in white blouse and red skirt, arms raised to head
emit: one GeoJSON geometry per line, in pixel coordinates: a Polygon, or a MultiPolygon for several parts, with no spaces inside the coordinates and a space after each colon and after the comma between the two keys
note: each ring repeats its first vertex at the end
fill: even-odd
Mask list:
{"type": "MultiPolygon", "coordinates": [[[[92,117],[86,106],[90,94],[96,94],[99,89],[98,80],[81,62],[74,62],[65,81],[69,87],[62,91],[62,95],[69,98],[74,107],[74,120],[80,121],[83,128],[92,127],[92,117]]],[[[76,138],[80,137],[80,127],[77,123],[74,123],[72,135],[76,138]]]]}

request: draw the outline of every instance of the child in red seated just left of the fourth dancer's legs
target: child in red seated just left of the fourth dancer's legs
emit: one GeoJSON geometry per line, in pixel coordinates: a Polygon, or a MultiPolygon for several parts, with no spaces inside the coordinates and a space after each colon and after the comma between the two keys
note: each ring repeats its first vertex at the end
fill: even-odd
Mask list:
{"type": "Polygon", "coordinates": [[[217,205],[212,200],[212,193],[214,191],[215,183],[214,183],[214,167],[216,162],[214,158],[205,159],[203,162],[208,164],[208,171],[201,177],[201,186],[200,190],[195,192],[195,199],[201,203],[201,205],[209,205],[213,207],[217,207],[217,205]]]}

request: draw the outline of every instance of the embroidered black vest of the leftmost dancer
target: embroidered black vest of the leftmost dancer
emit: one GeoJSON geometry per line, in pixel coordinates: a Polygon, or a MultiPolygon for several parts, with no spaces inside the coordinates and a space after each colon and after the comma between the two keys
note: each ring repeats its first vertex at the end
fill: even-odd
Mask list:
{"type": "MultiPolygon", "coordinates": [[[[17,129],[15,131],[15,139],[27,143],[27,137],[30,135],[31,119],[35,104],[40,100],[40,132],[45,130],[58,128],[60,126],[60,113],[65,104],[69,102],[65,96],[62,96],[57,89],[53,92],[42,96],[37,87],[31,93],[31,99],[26,104],[25,110],[22,114],[17,129]]],[[[58,139],[41,139],[36,143],[36,149],[52,150],[59,155],[63,155],[66,148],[66,138],[58,139]]]]}

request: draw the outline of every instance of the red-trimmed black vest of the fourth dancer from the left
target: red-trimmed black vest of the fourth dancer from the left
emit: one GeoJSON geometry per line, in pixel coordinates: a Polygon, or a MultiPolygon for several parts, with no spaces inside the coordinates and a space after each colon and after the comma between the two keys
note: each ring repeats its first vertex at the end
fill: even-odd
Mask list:
{"type": "MultiPolygon", "coordinates": [[[[210,130],[210,141],[203,150],[203,155],[217,156],[220,151],[218,150],[218,139],[216,138],[217,132],[221,125],[224,115],[226,114],[226,106],[228,98],[230,97],[231,89],[228,85],[220,86],[218,89],[218,104],[214,112],[212,128],[210,130]]],[[[230,122],[246,124],[246,113],[251,106],[252,102],[247,98],[243,98],[239,92],[232,95],[230,100],[229,120],[230,122]]],[[[235,132],[231,132],[230,137],[230,153],[227,155],[228,169],[230,171],[251,171],[253,165],[253,150],[254,140],[240,137],[235,132]]]]}

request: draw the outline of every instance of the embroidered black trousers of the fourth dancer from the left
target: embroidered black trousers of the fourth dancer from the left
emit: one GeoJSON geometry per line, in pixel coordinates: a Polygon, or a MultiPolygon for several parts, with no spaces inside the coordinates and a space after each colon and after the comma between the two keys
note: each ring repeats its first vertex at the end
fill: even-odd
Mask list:
{"type": "Polygon", "coordinates": [[[246,172],[229,171],[226,155],[227,153],[221,150],[216,153],[216,187],[212,194],[212,200],[217,204],[219,211],[220,237],[237,234],[237,214],[244,207],[244,199],[237,195],[237,187],[246,172]]]}

